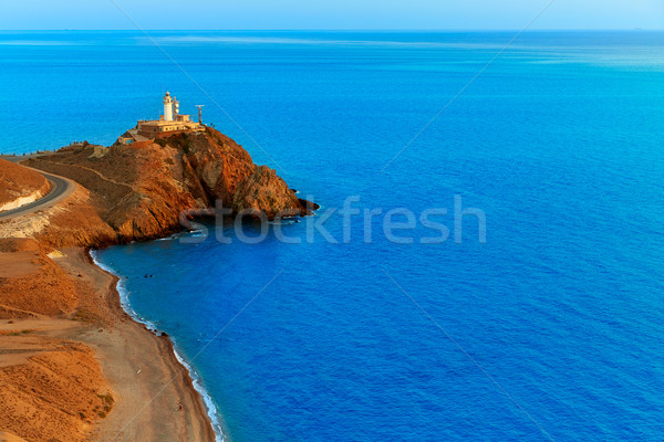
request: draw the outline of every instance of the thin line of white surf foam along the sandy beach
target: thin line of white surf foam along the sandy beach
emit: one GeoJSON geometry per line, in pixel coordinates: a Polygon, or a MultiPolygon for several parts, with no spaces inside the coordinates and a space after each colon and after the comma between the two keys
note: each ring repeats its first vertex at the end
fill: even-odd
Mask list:
{"type": "MultiPolygon", "coordinates": [[[[149,320],[141,317],[132,308],[132,305],[129,303],[129,292],[126,290],[126,285],[125,285],[126,278],[123,277],[122,275],[118,275],[117,273],[115,273],[115,271],[113,269],[111,269],[110,266],[103,264],[97,259],[97,255],[98,255],[98,253],[97,253],[96,250],[91,250],[90,251],[90,256],[92,257],[92,261],[95,263],[95,265],[97,267],[102,269],[105,272],[111,273],[114,276],[117,276],[117,278],[118,278],[117,285],[116,285],[116,290],[117,290],[117,293],[120,294],[120,304],[122,305],[122,308],[127,313],[127,315],[129,315],[132,317],[132,319],[136,320],[139,324],[145,325],[145,327],[147,327],[147,329],[149,329],[151,332],[153,332],[153,333],[155,333],[157,335],[160,335],[162,330],[159,330],[156,325],[154,325],[149,320]]],[[[196,370],[194,370],[194,368],[188,362],[186,362],[185,359],[177,351],[175,339],[173,337],[170,337],[170,336],[168,336],[168,338],[173,343],[173,352],[175,354],[175,358],[189,372],[189,377],[191,378],[191,383],[194,385],[194,389],[203,398],[203,402],[205,403],[208,418],[210,419],[210,422],[212,424],[212,430],[215,431],[215,440],[216,440],[216,442],[225,442],[226,438],[224,436],[222,425],[219,422],[219,414],[217,413],[217,407],[215,406],[215,402],[212,401],[212,398],[210,397],[210,394],[207,392],[207,390],[203,386],[200,377],[198,376],[198,373],[196,372],[196,370]]]]}

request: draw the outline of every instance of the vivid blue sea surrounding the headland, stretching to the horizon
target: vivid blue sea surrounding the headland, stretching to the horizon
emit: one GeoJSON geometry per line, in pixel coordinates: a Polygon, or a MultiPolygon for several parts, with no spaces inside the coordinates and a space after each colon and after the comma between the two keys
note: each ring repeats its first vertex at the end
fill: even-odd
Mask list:
{"type": "Polygon", "coordinates": [[[326,239],[96,254],[226,440],[662,441],[664,33],[516,34],[0,32],[0,152],[112,144],[168,90],[312,220],[356,197],[326,239]]]}

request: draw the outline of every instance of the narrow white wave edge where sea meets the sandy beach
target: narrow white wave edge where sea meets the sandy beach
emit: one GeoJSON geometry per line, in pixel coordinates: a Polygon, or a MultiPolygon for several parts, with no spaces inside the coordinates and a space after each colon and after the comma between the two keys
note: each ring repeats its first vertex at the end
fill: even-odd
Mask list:
{"type": "Polygon", "coordinates": [[[168,341],[168,347],[170,349],[170,354],[175,358],[176,364],[181,366],[183,371],[187,375],[191,389],[199,396],[199,399],[203,401],[205,408],[205,417],[209,421],[211,425],[212,432],[215,433],[215,442],[229,442],[227,435],[224,433],[222,423],[219,422],[217,407],[215,406],[211,396],[205,389],[203,385],[203,380],[200,376],[193,368],[191,364],[186,360],[186,358],[177,351],[176,343],[170,335],[166,334],[163,330],[159,330],[154,324],[149,320],[141,317],[131,306],[128,293],[124,286],[124,278],[122,275],[118,275],[114,269],[103,264],[100,262],[97,253],[97,249],[89,249],[85,251],[87,257],[90,259],[90,264],[96,266],[101,271],[107,273],[114,278],[114,283],[112,284],[112,290],[117,295],[117,301],[120,306],[125,315],[127,315],[134,323],[142,325],[145,329],[153,335],[155,338],[159,340],[165,339],[168,341]]]}

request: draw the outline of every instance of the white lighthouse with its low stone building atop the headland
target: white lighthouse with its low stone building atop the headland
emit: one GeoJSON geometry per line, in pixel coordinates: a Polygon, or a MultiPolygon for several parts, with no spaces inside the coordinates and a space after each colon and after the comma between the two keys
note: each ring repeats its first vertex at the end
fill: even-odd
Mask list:
{"type": "Polygon", "coordinates": [[[193,122],[190,115],[179,113],[179,102],[169,92],[164,95],[164,115],[159,119],[141,119],[136,127],[117,139],[118,144],[132,144],[154,139],[159,135],[179,131],[204,131],[201,122],[193,122]]]}

